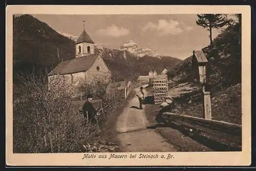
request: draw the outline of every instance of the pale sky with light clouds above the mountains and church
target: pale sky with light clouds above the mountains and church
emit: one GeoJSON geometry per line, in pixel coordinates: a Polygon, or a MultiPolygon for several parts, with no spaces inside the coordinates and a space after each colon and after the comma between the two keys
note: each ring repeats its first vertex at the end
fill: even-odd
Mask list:
{"type": "MultiPolygon", "coordinates": [[[[32,14],[33,15],[33,14],[32,14]]],[[[118,49],[127,41],[140,48],[151,49],[159,55],[181,60],[193,50],[209,45],[209,31],[196,24],[196,14],[113,14],[113,15],[58,15],[34,14],[56,31],[79,36],[85,28],[93,41],[103,47],[118,49]]],[[[214,29],[212,37],[220,30],[214,29]]]]}

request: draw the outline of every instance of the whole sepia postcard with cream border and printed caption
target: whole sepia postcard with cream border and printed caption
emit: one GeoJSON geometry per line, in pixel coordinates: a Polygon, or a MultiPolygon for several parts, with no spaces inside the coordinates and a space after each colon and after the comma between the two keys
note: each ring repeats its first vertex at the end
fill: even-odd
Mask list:
{"type": "Polygon", "coordinates": [[[244,42],[250,45],[250,36],[242,39],[250,20],[242,20],[238,7],[134,14],[132,7],[122,13],[101,7],[113,14],[93,6],[84,8],[98,12],[47,8],[9,11],[12,155],[65,154],[68,164],[75,154],[77,165],[176,165],[204,154],[187,162],[194,165],[217,152],[234,157],[246,150],[250,163],[250,137],[243,135],[251,123],[250,75],[242,73],[250,69],[250,47],[242,53],[244,42]]]}

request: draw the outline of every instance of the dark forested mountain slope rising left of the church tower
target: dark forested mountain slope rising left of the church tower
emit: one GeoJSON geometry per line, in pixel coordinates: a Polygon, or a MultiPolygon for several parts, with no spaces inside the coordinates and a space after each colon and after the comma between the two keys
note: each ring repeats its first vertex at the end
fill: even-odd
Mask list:
{"type": "Polygon", "coordinates": [[[31,15],[13,16],[14,71],[51,69],[74,58],[74,42],[31,15]]]}

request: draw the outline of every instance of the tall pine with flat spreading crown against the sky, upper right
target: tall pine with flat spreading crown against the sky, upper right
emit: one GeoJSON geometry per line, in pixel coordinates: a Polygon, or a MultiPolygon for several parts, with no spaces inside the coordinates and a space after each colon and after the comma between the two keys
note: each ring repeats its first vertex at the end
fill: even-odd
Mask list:
{"type": "Polygon", "coordinates": [[[222,14],[197,14],[197,25],[206,28],[210,34],[210,45],[212,45],[212,28],[221,28],[227,24],[227,20],[222,14]]]}

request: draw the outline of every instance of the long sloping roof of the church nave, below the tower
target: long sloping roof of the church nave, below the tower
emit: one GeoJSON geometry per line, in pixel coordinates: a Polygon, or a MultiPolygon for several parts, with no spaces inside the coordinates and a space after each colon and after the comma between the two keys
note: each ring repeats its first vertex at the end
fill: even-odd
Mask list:
{"type": "Polygon", "coordinates": [[[76,73],[88,70],[97,59],[98,54],[91,54],[59,63],[48,75],[76,73]]]}

